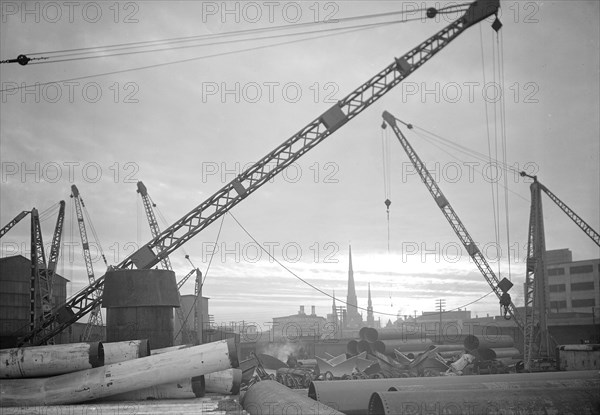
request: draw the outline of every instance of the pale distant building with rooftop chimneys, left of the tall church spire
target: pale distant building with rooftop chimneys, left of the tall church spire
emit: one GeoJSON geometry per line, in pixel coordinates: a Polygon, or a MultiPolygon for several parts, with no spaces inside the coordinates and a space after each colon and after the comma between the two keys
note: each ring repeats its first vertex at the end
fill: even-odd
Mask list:
{"type": "Polygon", "coordinates": [[[301,305],[298,314],[273,317],[273,338],[295,341],[302,337],[321,336],[326,324],[324,317],[316,315],[315,306],[312,306],[311,314],[306,314],[301,305]]]}

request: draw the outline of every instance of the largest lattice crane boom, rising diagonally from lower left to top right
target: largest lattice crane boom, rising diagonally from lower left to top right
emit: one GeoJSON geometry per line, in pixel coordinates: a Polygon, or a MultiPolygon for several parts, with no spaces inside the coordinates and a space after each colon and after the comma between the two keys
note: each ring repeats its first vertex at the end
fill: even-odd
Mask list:
{"type": "MultiPolygon", "coordinates": [[[[292,137],[277,146],[262,159],[248,167],[231,182],[192,209],[139,250],[125,258],[116,268],[148,269],[169,256],[231,208],[279,174],[286,167],[321,143],[347,122],[380,99],[406,77],[429,61],[469,27],[498,13],[499,0],[476,0],[465,14],[441,29],[403,56],[394,59],[384,69],[338,101],[320,116],[302,127],[292,137]]],[[[438,11],[427,10],[435,17],[438,11]]],[[[498,22],[494,22],[495,24],[498,22]]],[[[63,304],[45,324],[58,322],[63,330],[89,313],[100,303],[97,292],[102,290],[104,277],[84,288],[63,304]]]]}

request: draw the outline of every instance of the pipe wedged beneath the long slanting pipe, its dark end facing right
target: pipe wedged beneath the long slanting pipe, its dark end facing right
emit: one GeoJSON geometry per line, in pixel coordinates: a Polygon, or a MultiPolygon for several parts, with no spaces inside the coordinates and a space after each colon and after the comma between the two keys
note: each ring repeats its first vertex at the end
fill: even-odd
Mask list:
{"type": "Polygon", "coordinates": [[[156,399],[195,399],[205,395],[204,375],[173,383],[151,386],[107,396],[102,401],[147,401],[156,399]]]}

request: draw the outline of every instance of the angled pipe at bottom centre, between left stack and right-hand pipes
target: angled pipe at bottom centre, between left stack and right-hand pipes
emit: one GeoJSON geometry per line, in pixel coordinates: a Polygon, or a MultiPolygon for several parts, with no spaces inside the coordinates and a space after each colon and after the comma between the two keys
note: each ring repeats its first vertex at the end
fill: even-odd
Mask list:
{"type": "Polygon", "coordinates": [[[250,386],[243,397],[242,406],[250,415],[343,415],[272,380],[257,382],[250,386]]]}

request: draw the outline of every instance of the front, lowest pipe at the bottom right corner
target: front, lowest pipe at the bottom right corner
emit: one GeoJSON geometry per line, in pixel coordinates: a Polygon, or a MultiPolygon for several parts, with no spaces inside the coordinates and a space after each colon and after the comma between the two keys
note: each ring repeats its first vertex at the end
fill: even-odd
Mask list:
{"type": "MultiPolygon", "coordinates": [[[[598,385],[600,386],[600,385],[598,385]]],[[[597,386],[597,387],[598,387],[597,386]]],[[[420,390],[375,392],[369,400],[369,415],[415,413],[598,413],[598,389],[583,387],[556,389],[523,388],[494,390],[420,390]]]]}

